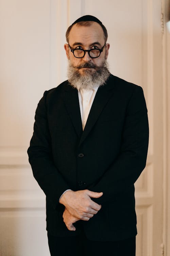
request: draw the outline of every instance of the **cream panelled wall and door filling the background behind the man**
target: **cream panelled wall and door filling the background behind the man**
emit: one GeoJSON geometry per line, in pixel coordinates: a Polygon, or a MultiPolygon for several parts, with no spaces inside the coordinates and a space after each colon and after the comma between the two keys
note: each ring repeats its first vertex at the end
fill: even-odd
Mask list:
{"type": "Polygon", "coordinates": [[[45,196],[27,148],[37,103],[67,79],[67,27],[86,14],[108,30],[113,75],[142,86],[150,126],[135,184],[136,256],[170,255],[168,0],[0,0],[0,255],[49,256],[45,196]]]}

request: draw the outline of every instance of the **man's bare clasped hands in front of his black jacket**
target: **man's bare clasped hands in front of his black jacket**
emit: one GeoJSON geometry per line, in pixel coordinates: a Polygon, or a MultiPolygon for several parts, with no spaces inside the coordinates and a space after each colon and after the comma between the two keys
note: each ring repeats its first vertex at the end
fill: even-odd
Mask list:
{"type": "Polygon", "coordinates": [[[99,198],[103,192],[93,192],[90,190],[66,191],[60,199],[60,203],[65,205],[63,220],[68,230],[75,230],[73,223],[78,220],[88,221],[97,214],[101,205],[95,203],[91,198],[99,198]]]}

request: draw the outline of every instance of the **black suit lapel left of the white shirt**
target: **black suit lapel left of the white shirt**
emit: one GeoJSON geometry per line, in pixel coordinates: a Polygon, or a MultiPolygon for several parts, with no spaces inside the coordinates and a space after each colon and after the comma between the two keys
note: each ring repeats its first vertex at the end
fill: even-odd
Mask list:
{"type": "Polygon", "coordinates": [[[63,99],[75,131],[77,132],[77,135],[81,137],[83,128],[77,89],[66,84],[63,99]]]}

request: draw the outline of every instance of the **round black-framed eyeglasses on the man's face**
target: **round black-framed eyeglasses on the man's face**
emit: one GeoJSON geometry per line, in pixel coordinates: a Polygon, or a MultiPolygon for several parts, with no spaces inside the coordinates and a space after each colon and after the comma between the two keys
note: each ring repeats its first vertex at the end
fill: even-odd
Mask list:
{"type": "Polygon", "coordinates": [[[103,47],[101,49],[90,49],[90,50],[83,50],[83,49],[71,49],[70,45],[70,50],[71,52],[74,54],[74,57],[76,58],[83,58],[84,55],[86,54],[86,52],[88,52],[88,55],[90,56],[90,58],[98,58],[101,54],[101,52],[103,52],[103,48],[104,48],[105,44],[103,45],[103,47]]]}

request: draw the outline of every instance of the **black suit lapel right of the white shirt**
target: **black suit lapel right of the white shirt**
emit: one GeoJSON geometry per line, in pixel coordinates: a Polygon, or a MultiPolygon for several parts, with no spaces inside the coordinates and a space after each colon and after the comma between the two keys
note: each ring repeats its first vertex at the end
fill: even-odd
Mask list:
{"type": "Polygon", "coordinates": [[[108,82],[104,85],[99,87],[94,102],[91,106],[89,116],[80,140],[79,145],[85,140],[88,136],[89,132],[91,131],[92,127],[95,125],[96,121],[98,120],[104,106],[108,102],[109,98],[112,96],[114,91],[114,76],[111,76],[108,82]]]}

